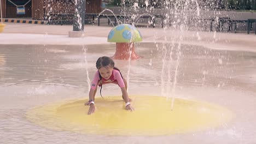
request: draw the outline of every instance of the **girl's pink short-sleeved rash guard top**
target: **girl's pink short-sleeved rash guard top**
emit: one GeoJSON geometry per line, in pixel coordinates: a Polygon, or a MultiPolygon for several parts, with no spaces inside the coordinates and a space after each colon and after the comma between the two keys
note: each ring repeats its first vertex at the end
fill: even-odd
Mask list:
{"type": "MultiPolygon", "coordinates": [[[[120,88],[125,87],[124,80],[121,77],[121,74],[117,69],[113,69],[112,75],[109,77],[108,80],[104,79],[103,77],[101,78],[101,80],[102,80],[102,85],[107,84],[107,83],[115,83],[115,84],[119,85],[120,88]]],[[[94,80],[92,80],[92,82],[91,82],[92,89],[96,89],[98,81],[100,81],[100,72],[98,72],[98,70],[97,70],[94,75],[94,80]]]]}

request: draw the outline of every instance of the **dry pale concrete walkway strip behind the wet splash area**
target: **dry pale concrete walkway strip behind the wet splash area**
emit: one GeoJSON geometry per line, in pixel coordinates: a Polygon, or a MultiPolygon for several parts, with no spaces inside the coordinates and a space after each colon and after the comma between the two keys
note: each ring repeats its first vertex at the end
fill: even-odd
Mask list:
{"type": "MultiPolygon", "coordinates": [[[[0,44],[54,44],[80,45],[108,43],[108,33],[113,27],[85,25],[84,38],[69,38],[73,26],[33,25],[26,23],[5,23],[0,34],[0,44]]],[[[202,45],[212,49],[246,50],[256,52],[256,35],[246,33],[216,33],[197,31],[177,31],[162,28],[138,28],[142,42],[202,45]]]]}

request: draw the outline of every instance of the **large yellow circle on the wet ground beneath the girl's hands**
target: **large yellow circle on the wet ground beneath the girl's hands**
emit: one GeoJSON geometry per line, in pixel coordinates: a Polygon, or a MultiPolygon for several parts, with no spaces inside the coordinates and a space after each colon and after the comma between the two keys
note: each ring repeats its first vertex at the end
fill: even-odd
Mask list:
{"type": "Polygon", "coordinates": [[[135,111],[126,111],[121,97],[96,98],[96,112],[87,115],[87,100],[66,101],[27,111],[31,122],[55,130],[100,135],[170,135],[206,130],[230,121],[222,106],[165,97],[132,97],[135,111]]]}

